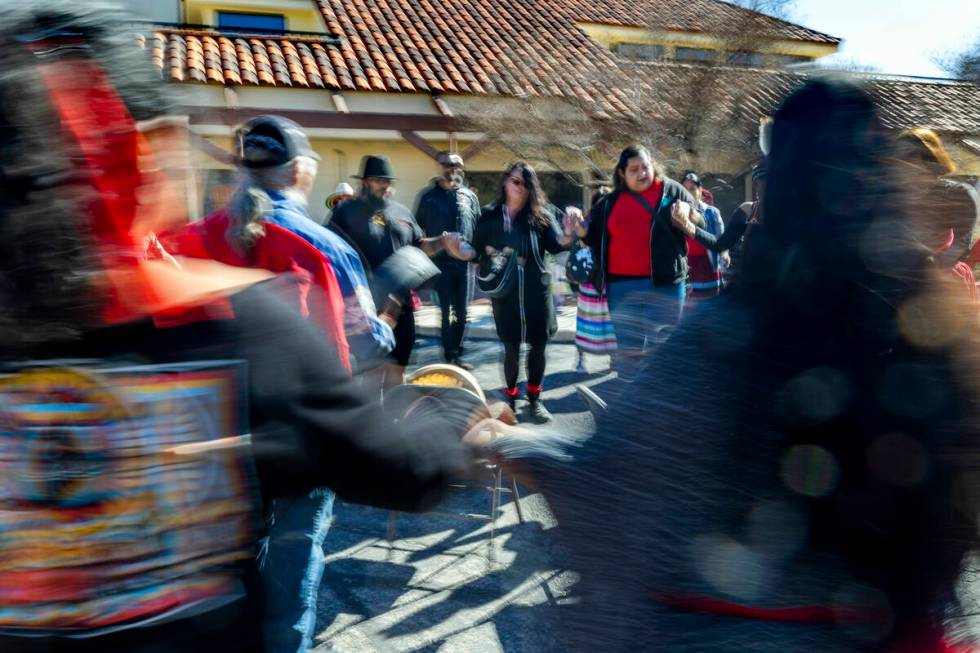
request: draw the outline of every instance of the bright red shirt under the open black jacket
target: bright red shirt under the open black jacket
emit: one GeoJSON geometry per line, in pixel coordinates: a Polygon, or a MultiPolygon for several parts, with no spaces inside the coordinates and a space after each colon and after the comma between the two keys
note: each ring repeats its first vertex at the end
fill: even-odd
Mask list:
{"type": "MultiPolygon", "coordinates": [[[[660,206],[663,180],[650,184],[640,195],[652,206],[660,206]]],[[[647,277],[650,261],[650,227],[653,216],[629,193],[621,193],[609,216],[609,273],[647,277]]]]}

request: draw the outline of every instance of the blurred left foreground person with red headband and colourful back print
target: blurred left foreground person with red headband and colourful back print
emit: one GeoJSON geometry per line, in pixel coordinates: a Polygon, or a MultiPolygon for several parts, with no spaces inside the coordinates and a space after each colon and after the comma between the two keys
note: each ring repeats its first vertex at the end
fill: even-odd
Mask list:
{"type": "MultiPolygon", "coordinates": [[[[273,500],[328,486],[349,501],[422,510],[470,468],[473,438],[460,438],[468,413],[447,415],[454,425],[433,417],[396,427],[352,385],[322,332],[265,287],[269,273],[210,261],[178,268],[155,245],[159,258],[148,258],[146,243],[154,241],[141,225],[181,206],[157,192],[153,151],[136,122],[159,118],[168,105],[121,29],[126,20],[98,2],[0,4],[0,359],[96,380],[67,373],[65,366],[85,363],[65,361],[240,362],[249,435],[139,456],[133,443],[165,443],[178,425],[147,434],[140,415],[112,408],[113,421],[92,428],[84,405],[66,411],[58,408],[62,395],[52,394],[45,400],[69,420],[52,430],[32,404],[16,410],[17,395],[4,385],[4,420],[35,421],[27,432],[5,421],[0,434],[0,650],[264,651],[269,624],[255,556],[224,564],[219,556],[200,577],[186,575],[191,560],[144,559],[139,551],[166,550],[158,538],[199,516],[168,509],[168,497],[152,491],[133,497],[135,506],[115,497],[155,473],[166,492],[164,472],[180,467],[173,457],[189,456],[190,465],[230,448],[243,468],[254,468],[259,494],[254,505],[210,508],[260,516],[273,500]],[[147,468],[134,466],[143,460],[147,468]],[[50,524],[53,534],[31,530],[51,515],[64,517],[50,524]],[[129,541],[132,524],[146,521],[129,541]],[[75,527],[83,523],[91,527],[75,527]],[[213,589],[216,575],[235,582],[207,601],[192,600],[200,588],[213,589]],[[190,593],[168,593],[178,583],[190,593]]],[[[101,401],[113,399],[102,386],[95,390],[101,401]]],[[[44,392],[38,388],[37,398],[44,392]]],[[[217,421],[236,405],[202,403],[194,414],[210,421],[211,411],[217,421]]],[[[222,482],[205,475],[183,483],[209,478],[222,482]]],[[[227,538],[228,556],[238,554],[232,533],[200,535],[219,547],[227,538]]],[[[283,633],[293,638],[289,650],[310,645],[314,622],[283,633]]]]}

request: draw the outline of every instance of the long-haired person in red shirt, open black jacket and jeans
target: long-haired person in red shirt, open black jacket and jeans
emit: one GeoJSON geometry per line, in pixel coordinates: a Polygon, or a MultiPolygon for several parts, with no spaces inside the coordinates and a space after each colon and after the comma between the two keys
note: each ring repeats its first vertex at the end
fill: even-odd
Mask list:
{"type": "Polygon", "coordinates": [[[704,226],[694,198],[668,179],[640,145],[624,149],[613,170],[613,192],[589,212],[584,236],[598,262],[595,286],[605,288],[618,344],[616,367],[662,340],[684,310],[687,240],[673,215],[704,226]]]}

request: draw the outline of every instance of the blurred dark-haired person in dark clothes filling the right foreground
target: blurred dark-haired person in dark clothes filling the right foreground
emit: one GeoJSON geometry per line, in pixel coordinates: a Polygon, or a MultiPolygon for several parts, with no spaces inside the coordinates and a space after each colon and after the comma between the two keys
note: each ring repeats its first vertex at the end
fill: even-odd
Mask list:
{"type": "Polygon", "coordinates": [[[977,315],[893,146],[851,83],[788,97],[731,292],[571,471],[537,466],[581,574],[567,650],[975,650],[946,620],[978,539],[977,315]]]}

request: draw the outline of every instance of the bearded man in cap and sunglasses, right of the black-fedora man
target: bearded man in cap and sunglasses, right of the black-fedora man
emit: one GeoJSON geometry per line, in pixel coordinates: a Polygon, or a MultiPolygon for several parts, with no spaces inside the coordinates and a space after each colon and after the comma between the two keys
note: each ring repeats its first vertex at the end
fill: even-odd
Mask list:
{"type": "MultiPolygon", "coordinates": [[[[415,217],[426,233],[459,234],[460,241],[470,243],[473,229],[480,219],[480,201],[476,193],[463,185],[463,157],[440,152],[436,162],[439,164],[439,176],[419,195],[415,217]]],[[[442,312],[442,349],[446,362],[463,369],[473,369],[472,365],[462,360],[469,300],[469,263],[448,251],[437,254],[433,261],[441,272],[435,285],[442,312]]]]}

